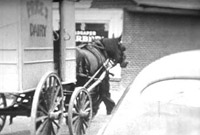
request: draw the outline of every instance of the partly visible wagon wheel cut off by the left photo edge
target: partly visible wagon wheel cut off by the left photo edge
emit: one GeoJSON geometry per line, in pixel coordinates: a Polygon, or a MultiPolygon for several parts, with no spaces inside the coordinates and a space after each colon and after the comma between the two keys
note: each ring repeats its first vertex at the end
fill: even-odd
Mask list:
{"type": "MultiPolygon", "coordinates": [[[[4,94],[0,94],[0,108],[5,108],[6,104],[6,97],[4,94]]],[[[3,129],[6,123],[6,115],[0,115],[0,132],[3,129]]]]}

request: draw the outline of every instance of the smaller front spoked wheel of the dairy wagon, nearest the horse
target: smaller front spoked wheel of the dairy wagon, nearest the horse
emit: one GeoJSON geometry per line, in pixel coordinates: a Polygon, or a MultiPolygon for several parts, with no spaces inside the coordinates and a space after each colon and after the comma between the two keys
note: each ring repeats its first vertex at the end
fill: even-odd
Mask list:
{"type": "Polygon", "coordinates": [[[92,119],[92,101],[88,91],[78,87],[72,93],[68,109],[68,127],[71,135],[84,135],[92,119]]]}

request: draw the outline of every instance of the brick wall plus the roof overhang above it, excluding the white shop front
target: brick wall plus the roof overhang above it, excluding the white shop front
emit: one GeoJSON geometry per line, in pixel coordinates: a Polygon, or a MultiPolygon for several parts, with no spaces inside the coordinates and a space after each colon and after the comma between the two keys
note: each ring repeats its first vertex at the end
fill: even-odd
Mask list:
{"type": "MultiPolygon", "coordinates": [[[[92,7],[112,9],[116,1],[122,2],[94,0],[92,7]]],[[[122,7],[116,6],[123,10],[123,43],[130,62],[122,69],[123,87],[145,66],[163,56],[200,49],[200,3],[180,0],[174,6],[173,2],[177,3],[176,0],[164,3],[162,0],[124,0],[122,7]]]]}

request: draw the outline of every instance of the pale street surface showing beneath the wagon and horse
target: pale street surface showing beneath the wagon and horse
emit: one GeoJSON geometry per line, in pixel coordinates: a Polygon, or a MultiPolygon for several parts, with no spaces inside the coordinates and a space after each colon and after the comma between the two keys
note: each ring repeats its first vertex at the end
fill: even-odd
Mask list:
{"type": "MultiPolygon", "coordinates": [[[[112,92],[112,99],[117,103],[120,99],[121,95],[123,94],[123,90],[118,91],[111,91],[112,92]]],[[[100,105],[100,110],[94,119],[91,122],[90,128],[88,129],[88,135],[95,135],[98,133],[98,130],[105,125],[110,119],[110,115],[106,115],[106,109],[104,104],[100,105]]],[[[3,131],[0,133],[1,135],[29,135],[29,127],[30,127],[30,118],[28,117],[21,117],[18,116],[14,118],[13,124],[9,125],[9,117],[7,118],[6,126],[4,127],[3,131]]],[[[61,135],[69,135],[68,127],[66,126],[65,122],[63,122],[62,126],[62,133],[61,135]]]]}

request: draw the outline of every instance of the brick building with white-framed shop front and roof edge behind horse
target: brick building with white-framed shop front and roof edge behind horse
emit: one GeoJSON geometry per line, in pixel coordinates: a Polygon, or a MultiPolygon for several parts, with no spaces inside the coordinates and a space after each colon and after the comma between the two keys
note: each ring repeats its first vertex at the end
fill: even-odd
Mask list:
{"type": "MultiPolygon", "coordinates": [[[[109,38],[122,35],[130,63],[113,72],[121,80],[120,86],[126,88],[151,62],[172,53],[200,49],[199,11],[198,0],[80,0],[75,4],[75,21],[77,31],[87,33],[87,26],[96,25],[109,38]]],[[[89,31],[95,33],[97,27],[89,31]]],[[[92,36],[84,40],[99,35],[96,32],[92,36]]]]}

